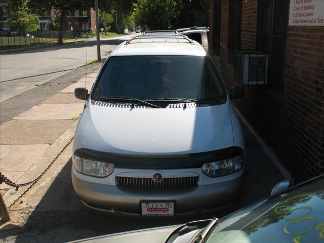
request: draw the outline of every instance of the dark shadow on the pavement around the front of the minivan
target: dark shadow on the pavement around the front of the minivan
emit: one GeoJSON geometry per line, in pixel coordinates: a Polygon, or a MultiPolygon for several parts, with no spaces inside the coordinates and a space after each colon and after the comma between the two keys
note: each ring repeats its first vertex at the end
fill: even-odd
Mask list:
{"type": "Polygon", "coordinates": [[[222,217],[269,195],[281,174],[245,125],[247,149],[245,188],[238,204],[227,210],[187,218],[126,218],[85,208],[75,196],[70,179],[71,159],[22,228],[3,230],[2,238],[16,236],[16,242],[65,242],[121,231],[185,223],[195,219],[222,217]]]}

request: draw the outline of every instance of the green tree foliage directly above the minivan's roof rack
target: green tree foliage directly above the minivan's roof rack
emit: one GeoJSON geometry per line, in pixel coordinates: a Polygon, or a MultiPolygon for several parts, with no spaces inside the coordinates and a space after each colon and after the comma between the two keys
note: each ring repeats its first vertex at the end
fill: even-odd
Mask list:
{"type": "Polygon", "coordinates": [[[173,29],[181,4],[182,0],[138,0],[133,5],[135,22],[151,30],[173,29]]]}

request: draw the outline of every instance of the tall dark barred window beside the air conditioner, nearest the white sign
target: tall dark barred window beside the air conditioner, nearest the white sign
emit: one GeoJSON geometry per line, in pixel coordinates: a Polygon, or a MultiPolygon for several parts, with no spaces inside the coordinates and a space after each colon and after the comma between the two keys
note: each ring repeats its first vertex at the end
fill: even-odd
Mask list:
{"type": "Polygon", "coordinates": [[[258,0],[256,49],[269,54],[268,85],[282,87],[286,58],[289,0],[258,0]]]}

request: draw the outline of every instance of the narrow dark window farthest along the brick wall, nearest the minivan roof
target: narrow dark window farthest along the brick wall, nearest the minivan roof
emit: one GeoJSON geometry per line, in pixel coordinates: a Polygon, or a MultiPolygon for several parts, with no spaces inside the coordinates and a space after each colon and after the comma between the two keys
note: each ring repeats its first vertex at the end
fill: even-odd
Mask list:
{"type": "Polygon", "coordinates": [[[221,45],[221,0],[214,1],[213,53],[219,55],[221,45]]]}

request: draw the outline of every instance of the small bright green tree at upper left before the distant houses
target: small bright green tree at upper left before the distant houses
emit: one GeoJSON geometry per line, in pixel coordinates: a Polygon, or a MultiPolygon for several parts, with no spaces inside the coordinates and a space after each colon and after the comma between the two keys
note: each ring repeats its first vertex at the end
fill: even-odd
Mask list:
{"type": "MultiPolygon", "coordinates": [[[[15,8],[9,8],[10,17],[7,23],[10,25],[11,29],[19,30],[22,34],[28,32],[36,31],[38,29],[38,17],[32,14],[28,8],[29,0],[21,1],[20,5],[15,6],[15,8]]],[[[11,5],[12,6],[12,5],[11,5]]]]}

